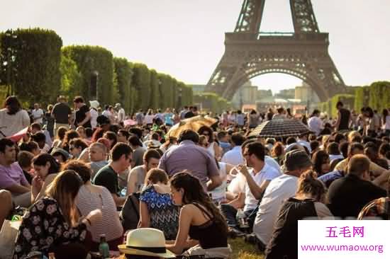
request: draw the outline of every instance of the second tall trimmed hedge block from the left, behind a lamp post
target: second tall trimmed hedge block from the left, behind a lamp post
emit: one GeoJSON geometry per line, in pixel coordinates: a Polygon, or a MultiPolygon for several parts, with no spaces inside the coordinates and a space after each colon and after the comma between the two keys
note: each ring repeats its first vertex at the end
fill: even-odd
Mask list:
{"type": "Polygon", "coordinates": [[[104,47],[99,46],[68,46],[62,48],[65,57],[72,59],[77,64],[77,69],[82,76],[79,93],[91,100],[91,74],[99,73],[98,100],[101,106],[116,102],[118,93],[114,88],[113,54],[104,47]]]}

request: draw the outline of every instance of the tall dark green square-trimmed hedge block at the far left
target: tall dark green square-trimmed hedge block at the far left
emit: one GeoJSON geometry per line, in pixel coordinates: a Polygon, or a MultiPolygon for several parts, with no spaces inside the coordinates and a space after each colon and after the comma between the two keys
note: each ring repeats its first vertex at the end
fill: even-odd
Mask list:
{"type": "Polygon", "coordinates": [[[1,73],[1,81],[11,83],[12,92],[23,103],[41,102],[43,105],[54,102],[60,92],[62,40],[52,30],[40,28],[18,29],[13,31],[16,38],[8,40],[5,33],[0,35],[1,53],[7,59],[7,49],[16,50],[13,72],[8,80],[8,72],[1,73]],[[11,82],[8,82],[11,81],[11,82]]]}

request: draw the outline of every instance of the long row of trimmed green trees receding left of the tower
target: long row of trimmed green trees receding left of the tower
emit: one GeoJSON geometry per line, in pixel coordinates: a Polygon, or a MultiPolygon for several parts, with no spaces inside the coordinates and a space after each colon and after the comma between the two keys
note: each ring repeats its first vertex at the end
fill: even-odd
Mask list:
{"type": "Polygon", "coordinates": [[[62,47],[60,36],[40,28],[11,34],[0,34],[0,89],[4,95],[16,94],[26,105],[55,103],[60,94],[70,100],[78,95],[97,98],[101,105],[121,103],[128,113],[193,103],[192,89],[183,82],[145,64],[113,57],[103,47],[62,47]]]}

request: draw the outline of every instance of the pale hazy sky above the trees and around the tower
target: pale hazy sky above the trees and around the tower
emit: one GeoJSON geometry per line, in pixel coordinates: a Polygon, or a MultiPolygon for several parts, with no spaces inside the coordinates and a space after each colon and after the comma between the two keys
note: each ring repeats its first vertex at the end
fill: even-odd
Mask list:
{"type": "MultiPolygon", "coordinates": [[[[55,30],[64,45],[100,45],[186,84],[206,84],[233,31],[242,0],[0,0],[0,30],[55,30]]],[[[389,0],[312,0],[329,52],[347,85],[390,79],[389,0]]],[[[262,31],[292,31],[289,0],[267,0],[262,31]]],[[[254,84],[300,84],[284,74],[254,84]]]]}

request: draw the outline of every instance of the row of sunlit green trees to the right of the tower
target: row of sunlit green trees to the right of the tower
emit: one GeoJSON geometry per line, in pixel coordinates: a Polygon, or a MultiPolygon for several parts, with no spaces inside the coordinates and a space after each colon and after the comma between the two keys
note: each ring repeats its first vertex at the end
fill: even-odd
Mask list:
{"type": "Polygon", "coordinates": [[[318,103],[318,109],[334,117],[337,113],[335,105],[339,100],[344,103],[346,108],[355,109],[357,112],[367,106],[379,112],[384,108],[390,108],[389,81],[378,81],[370,86],[354,87],[353,90],[353,94],[338,94],[327,102],[318,103]]]}

